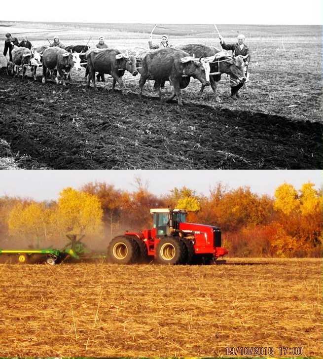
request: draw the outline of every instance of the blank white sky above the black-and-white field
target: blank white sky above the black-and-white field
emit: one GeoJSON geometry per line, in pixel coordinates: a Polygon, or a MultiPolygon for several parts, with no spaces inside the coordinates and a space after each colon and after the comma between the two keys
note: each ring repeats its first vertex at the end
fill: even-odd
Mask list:
{"type": "Polygon", "coordinates": [[[2,1],[2,21],[322,25],[322,0],[2,1]]]}

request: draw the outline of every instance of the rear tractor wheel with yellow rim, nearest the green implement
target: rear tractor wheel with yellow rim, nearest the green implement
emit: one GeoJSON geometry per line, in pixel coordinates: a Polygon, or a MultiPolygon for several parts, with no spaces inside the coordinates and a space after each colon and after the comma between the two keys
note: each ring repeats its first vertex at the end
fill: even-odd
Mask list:
{"type": "Polygon", "coordinates": [[[116,264],[136,263],[140,259],[140,248],[132,237],[118,236],[108,245],[108,262],[116,264]]]}

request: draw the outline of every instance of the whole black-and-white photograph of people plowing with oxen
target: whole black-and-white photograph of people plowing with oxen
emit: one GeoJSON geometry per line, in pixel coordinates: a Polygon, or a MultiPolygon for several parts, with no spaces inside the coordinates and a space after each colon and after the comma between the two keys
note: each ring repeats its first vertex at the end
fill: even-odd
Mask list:
{"type": "Polygon", "coordinates": [[[320,0],[2,10],[1,168],[322,168],[320,0]]]}

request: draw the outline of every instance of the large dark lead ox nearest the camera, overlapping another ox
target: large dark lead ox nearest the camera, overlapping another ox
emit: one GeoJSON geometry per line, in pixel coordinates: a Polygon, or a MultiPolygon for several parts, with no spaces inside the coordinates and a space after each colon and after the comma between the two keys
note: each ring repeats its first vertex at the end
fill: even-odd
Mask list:
{"type": "Polygon", "coordinates": [[[161,48],[148,52],[143,58],[143,68],[139,80],[139,96],[142,97],[143,87],[147,79],[155,80],[154,88],[162,100],[161,85],[165,81],[173,84],[173,93],[166,99],[172,100],[177,96],[182,105],[180,89],[188,86],[190,77],[198,79],[202,85],[209,86],[205,65],[199,59],[194,59],[187,52],[175,48],[161,48]]]}

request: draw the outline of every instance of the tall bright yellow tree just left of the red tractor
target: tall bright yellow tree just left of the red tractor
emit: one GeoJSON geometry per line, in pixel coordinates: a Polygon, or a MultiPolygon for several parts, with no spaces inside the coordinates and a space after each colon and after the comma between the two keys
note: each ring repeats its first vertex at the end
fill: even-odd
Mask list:
{"type": "Polygon", "coordinates": [[[68,233],[100,236],[102,216],[97,196],[68,187],[60,192],[52,224],[59,230],[60,236],[68,233]]]}

